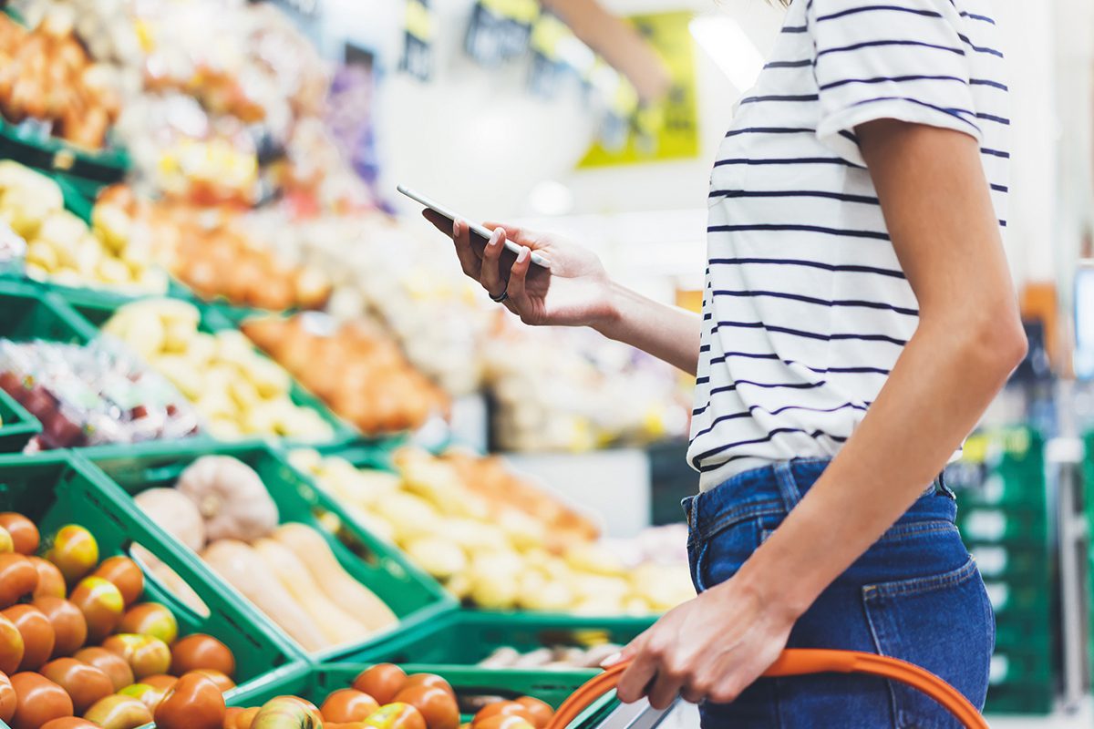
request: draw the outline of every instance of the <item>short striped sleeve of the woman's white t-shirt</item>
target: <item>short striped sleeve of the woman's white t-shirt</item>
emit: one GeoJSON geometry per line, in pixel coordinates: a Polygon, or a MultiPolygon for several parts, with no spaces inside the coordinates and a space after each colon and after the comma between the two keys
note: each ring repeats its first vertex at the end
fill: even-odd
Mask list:
{"type": "Polygon", "coordinates": [[[865,165],[854,128],[874,119],[955,129],[981,139],[969,90],[974,52],[950,0],[812,0],[821,102],[817,138],[865,165]]]}

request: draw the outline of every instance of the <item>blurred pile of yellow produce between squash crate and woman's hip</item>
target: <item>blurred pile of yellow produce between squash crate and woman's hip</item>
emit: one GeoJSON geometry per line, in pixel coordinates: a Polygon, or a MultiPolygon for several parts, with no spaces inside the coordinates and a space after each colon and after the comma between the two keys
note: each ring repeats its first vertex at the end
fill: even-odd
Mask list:
{"type": "Polygon", "coordinates": [[[594,540],[586,518],[546,493],[514,487],[510,501],[503,484],[515,479],[499,478],[497,461],[404,449],[392,473],[309,450],[290,460],[468,604],[648,614],[695,596],[686,562],[628,564],[594,540]]]}

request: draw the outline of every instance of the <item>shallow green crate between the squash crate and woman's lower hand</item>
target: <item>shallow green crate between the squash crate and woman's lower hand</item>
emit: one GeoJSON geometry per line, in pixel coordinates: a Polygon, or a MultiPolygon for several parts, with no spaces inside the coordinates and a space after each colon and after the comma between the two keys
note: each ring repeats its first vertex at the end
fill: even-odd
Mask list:
{"type": "Polygon", "coordinates": [[[653,625],[656,616],[584,618],[578,615],[461,610],[419,631],[404,632],[347,654],[344,661],[474,666],[494,648],[526,652],[552,646],[627,644],[653,625]]]}

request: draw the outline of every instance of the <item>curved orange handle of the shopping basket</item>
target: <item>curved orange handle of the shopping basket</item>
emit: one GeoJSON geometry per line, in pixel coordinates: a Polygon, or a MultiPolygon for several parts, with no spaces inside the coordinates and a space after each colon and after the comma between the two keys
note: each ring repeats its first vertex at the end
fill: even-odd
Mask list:
{"type": "MultiPolygon", "coordinates": [[[[597,698],[619,683],[629,661],[617,663],[592,679],[562,703],[546,729],[566,729],[597,698]]],[[[869,673],[918,689],[941,704],[967,729],[988,729],[988,722],[965,696],[930,671],[897,658],[853,650],[789,648],[764,672],[765,677],[807,675],[810,673],[869,673]]]]}

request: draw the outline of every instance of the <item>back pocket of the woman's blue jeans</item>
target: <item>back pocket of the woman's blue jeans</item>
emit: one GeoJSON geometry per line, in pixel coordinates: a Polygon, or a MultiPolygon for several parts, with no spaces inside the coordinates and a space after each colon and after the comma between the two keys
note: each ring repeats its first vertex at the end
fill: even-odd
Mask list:
{"type": "MultiPolygon", "coordinates": [[[[971,557],[939,575],[868,585],[862,600],[878,654],[926,668],[984,706],[994,624],[971,557]]],[[[895,682],[889,691],[897,727],[959,729],[926,694],[895,682]]]]}

